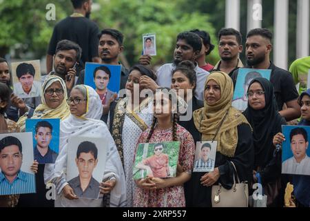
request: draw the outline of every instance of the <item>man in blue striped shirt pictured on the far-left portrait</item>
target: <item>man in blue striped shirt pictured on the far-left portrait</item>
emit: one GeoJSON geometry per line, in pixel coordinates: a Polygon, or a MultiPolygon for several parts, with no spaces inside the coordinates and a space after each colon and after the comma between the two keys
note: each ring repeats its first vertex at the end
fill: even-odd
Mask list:
{"type": "Polygon", "coordinates": [[[17,137],[0,140],[0,195],[35,193],[34,175],[21,171],[22,144],[17,137]]]}

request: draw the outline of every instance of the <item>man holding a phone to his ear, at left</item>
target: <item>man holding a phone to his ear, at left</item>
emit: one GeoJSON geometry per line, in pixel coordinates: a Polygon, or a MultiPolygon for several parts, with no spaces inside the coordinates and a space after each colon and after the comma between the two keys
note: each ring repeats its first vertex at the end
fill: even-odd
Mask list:
{"type": "Polygon", "coordinates": [[[73,41],[61,40],[56,46],[54,55],[54,71],[49,75],[56,75],[65,81],[68,95],[75,84],[76,70],[74,64],[81,59],[81,48],[73,41]]]}

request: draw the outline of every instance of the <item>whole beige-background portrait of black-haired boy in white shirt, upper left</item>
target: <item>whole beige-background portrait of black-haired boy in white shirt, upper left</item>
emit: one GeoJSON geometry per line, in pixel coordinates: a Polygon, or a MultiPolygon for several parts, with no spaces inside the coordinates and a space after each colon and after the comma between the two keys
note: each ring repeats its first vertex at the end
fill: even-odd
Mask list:
{"type": "Polygon", "coordinates": [[[40,60],[12,62],[14,94],[20,98],[41,96],[40,60]]]}

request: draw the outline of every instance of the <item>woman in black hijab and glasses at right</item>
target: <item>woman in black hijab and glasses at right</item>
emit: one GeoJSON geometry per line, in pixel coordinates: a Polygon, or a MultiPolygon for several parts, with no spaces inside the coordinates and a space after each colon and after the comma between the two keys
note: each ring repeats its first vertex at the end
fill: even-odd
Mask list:
{"type": "Polygon", "coordinates": [[[285,119],[278,113],[273,86],[265,78],[251,81],[248,104],[243,113],[253,128],[254,183],[260,182],[267,195],[267,206],[280,205],[281,153],[273,146],[273,136],[282,131],[285,119]],[[269,190],[269,191],[268,191],[269,190]]]}

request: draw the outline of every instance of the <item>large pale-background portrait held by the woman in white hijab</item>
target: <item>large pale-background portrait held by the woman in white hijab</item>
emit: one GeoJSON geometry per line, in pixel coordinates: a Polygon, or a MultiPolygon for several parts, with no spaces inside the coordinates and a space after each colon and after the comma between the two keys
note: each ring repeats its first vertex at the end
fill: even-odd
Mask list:
{"type": "Polygon", "coordinates": [[[100,137],[70,137],[67,182],[79,198],[99,199],[107,142],[100,137]]]}

